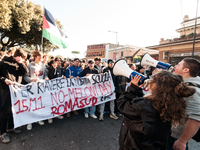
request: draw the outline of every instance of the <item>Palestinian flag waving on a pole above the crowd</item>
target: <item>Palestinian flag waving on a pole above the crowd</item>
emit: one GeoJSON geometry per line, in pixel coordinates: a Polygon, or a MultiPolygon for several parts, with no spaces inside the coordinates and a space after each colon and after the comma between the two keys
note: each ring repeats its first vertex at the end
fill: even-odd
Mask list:
{"type": "Polygon", "coordinates": [[[67,48],[67,35],[56,25],[51,13],[44,9],[42,36],[60,48],[67,48]]]}

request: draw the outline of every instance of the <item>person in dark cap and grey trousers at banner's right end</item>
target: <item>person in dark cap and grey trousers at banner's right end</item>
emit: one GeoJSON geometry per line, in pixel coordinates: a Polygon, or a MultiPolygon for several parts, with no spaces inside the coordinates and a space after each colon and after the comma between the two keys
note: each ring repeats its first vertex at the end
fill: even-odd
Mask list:
{"type": "MultiPolygon", "coordinates": [[[[108,67],[103,69],[103,73],[105,72],[110,72],[111,76],[112,76],[112,80],[114,83],[114,86],[116,87],[116,82],[115,82],[115,75],[113,74],[113,64],[114,61],[112,59],[108,59],[108,67]]],[[[99,120],[103,121],[103,112],[104,112],[104,108],[105,108],[105,103],[100,104],[100,115],[99,115],[99,120]]],[[[111,100],[110,101],[110,117],[113,119],[118,119],[118,117],[115,115],[114,111],[115,111],[115,101],[111,100]]]]}

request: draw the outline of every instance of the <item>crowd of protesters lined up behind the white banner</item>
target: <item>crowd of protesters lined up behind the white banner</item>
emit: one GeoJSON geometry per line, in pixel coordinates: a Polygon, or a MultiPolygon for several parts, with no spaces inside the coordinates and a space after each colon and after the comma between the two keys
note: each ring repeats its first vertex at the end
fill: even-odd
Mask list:
{"type": "MultiPolygon", "coordinates": [[[[0,72],[0,92],[1,95],[3,95],[0,96],[0,98],[2,98],[0,101],[0,130],[2,135],[1,141],[3,143],[10,142],[10,138],[7,132],[21,132],[19,129],[13,129],[14,125],[11,111],[11,98],[10,91],[8,89],[8,85],[12,84],[12,82],[28,84],[30,82],[36,82],[41,79],[51,80],[57,77],[80,78],[88,76],[89,74],[103,74],[109,71],[112,75],[113,83],[116,87],[115,92],[117,97],[119,97],[119,93],[124,92],[125,88],[121,85],[121,78],[123,77],[119,79],[118,77],[114,76],[112,71],[113,64],[113,60],[109,59],[108,62],[105,63],[102,62],[101,58],[99,57],[89,61],[85,59],[81,60],[79,58],[67,61],[66,59],[61,59],[59,57],[54,58],[53,56],[49,59],[47,54],[42,54],[40,51],[32,51],[30,54],[26,54],[22,49],[8,50],[7,54],[5,52],[0,52],[0,69],[5,71],[0,72]],[[18,61],[18,59],[20,61],[18,61]],[[10,66],[13,66],[10,63],[14,64],[14,69],[9,68],[10,66]],[[17,69],[18,67],[21,69],[17,69]]],[[[84,108],[84,117],[88,118],[90,116],[96,119],[98,118],[96,115],[100,114],[99,120],[103,121],[103,114],[105,112],[110,112],[110,117],[116,120],[118,119],[118,116],[122,116],[118,111],[115,99],[107,102],[106,104],[103,103],[99,106],[84,108]],[[108,105],[110,105],[110,108],[108,105]]],[[[76,110],[73,111],[73,113],[78,115],[78,111],[76,110]]],[[[66,117],[70,117],[70,112],[66,114],[66,117]]],[[[63,119],[64,115],[60,115],[57,118],[63,119]]],[[[48,123],[53,123],[53,118],[48,119],[48,123]]],[[[38,124],[44,125],[45,123],[44,121],[38,121],[38,124]]],[[[27,130],[32,130],[32,124],[27,125],[27,130]]]]}

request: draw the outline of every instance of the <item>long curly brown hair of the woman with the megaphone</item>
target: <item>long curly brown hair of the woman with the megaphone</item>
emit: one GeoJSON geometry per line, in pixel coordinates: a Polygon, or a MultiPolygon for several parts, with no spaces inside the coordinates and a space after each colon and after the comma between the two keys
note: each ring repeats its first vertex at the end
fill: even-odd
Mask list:
{"type": "Polygon", "coordinates": [[[181,76],[168,71],[155,74],[149,84],[152,91],[147,98],[159,112],[161,119],[171,121],[173,125],[184,124],[186,102],[183,98],[193,95],[195,89],[187,86],[181,76]]]}

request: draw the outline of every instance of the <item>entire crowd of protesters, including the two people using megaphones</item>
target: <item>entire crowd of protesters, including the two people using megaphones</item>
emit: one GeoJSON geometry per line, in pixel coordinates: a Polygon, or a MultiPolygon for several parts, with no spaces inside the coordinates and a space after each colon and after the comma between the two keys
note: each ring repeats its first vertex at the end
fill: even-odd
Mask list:
{"type": "MultiPolygon", "coordinates": [[[[9,143],[8,132],[13,129],[11,98],[8,85],[13,82],[27,84],[39,79],[57,77],[80,78],[90,74],[110,72],[115,87],[116,99],[99,106],[84,108],[83,116],[104,120],[104,114],[117,120],[123,115],[119,145],[120,150],[187,150],[187,142],[200,127],[200,62],[185,58],[174,72],[158,70],[152,66],[128,64],[130,69],[146,76],[148,93],[139,85],[140,76],[131,79],[113,74],[114,61],[102,62],[101,58],[86,60],[75,58],[62,60],[39,51],[26,54],[21,49],[0,52],[0,131],[1,141],[9,143]],[[99,116],[97,116],[99,114],[99,116]],[[182,126],[181,126],[182,125],[182,126]]],[[[78,115],[78,111],[73,111],[78,115]]],[[[57,118],[63,119],[65,115],[57,118]]],[[[70,117],[70,112],[66,114],[70,117]]],[[[53,118],[48,119],[53,123],[53,118]]],[[[44,125],[44,121],[38,121],[44,125]]],[[[32,124],[27,125],[27,130],[32,124]]]]}

